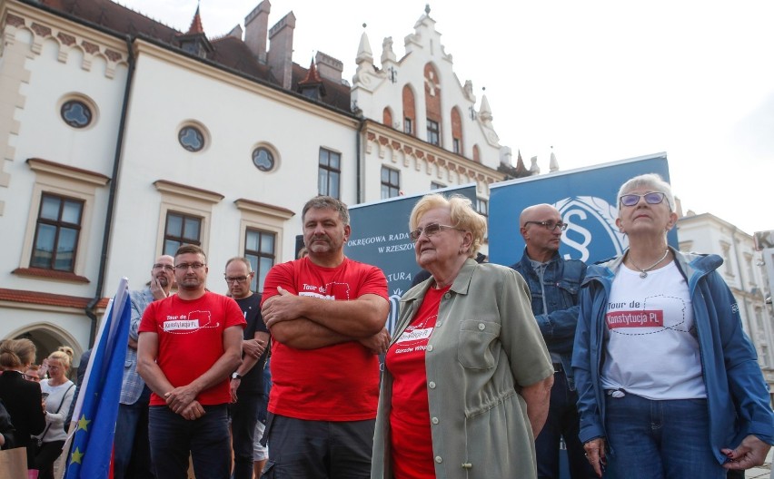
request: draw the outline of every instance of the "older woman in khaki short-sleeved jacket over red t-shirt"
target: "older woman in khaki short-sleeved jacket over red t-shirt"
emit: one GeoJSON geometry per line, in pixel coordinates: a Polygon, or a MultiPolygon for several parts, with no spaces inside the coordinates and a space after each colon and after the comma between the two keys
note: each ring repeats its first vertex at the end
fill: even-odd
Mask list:
{"type": "Polygon", "coordinates": [[[524,279],[476,263],[486,220],[471,200],[425,196],[409,226],[432,277],[401,298],[372,478],[536,477],[553,367],[524,279]]]}

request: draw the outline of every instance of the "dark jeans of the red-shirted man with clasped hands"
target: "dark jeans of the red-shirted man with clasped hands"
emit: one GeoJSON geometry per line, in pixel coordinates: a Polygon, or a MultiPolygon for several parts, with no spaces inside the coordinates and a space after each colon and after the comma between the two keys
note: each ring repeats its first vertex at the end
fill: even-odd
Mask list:
{"type": "Polygon", "coordinates": [[[167,406],[151,406],[151,459],[156,477],[187,479],[188,455],[193,473],[205,479],[228,479],[231,445],[226,405],[203,406],[204,415],[189,421],[167,406]]]}

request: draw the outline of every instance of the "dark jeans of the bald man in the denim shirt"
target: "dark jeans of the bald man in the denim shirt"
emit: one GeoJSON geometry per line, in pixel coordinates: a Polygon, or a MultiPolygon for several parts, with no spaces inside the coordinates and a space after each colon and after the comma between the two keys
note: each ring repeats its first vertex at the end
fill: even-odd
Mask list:
{"type": "Polygon", "coordinates": [[[535,439],[535,454],[538,460],[538,477],[559,479],[560,440],[564,436],[567,445],[567,459],[572,479],[596,479],[597,474],[586,460],[585,451],[578,433],[581,428],[580,416],[575,403],[578,393],[567,385],[563,371],[553,375],[551,405],[541,434],[535,439]]]}

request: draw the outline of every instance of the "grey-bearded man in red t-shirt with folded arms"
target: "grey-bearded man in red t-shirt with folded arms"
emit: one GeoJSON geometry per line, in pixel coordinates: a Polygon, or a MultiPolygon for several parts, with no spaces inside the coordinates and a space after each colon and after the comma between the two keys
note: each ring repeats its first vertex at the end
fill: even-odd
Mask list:
{"type": "Polygon", "coordinates": [[[379,360],[390,336],[381,269],[348,259],[349,211],[318,196],[303,207],[309,256],[266,275],[263,320],[273,337],[263,470],[277,477],[367,478],[379,399],[379,360]],[[299,438],[303,438],[300,440],[299,438]]]}

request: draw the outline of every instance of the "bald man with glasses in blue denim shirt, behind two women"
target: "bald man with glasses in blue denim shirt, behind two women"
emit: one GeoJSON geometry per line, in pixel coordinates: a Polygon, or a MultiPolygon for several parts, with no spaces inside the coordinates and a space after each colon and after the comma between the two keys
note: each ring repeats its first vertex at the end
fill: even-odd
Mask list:
{"type": "Polygon", "coordinates": [[[559,478],[560,439],[564,436],[572,479],[596,477],[578,438],[578,394],[572,384],[571,358],[578,324],[578,290],[586,265],[559,254],[561,214],[549,204],[521,211],[520,231],[527,243],[521,261],[511,266],[530,286],[532,313],[541,328],[554,367],[551,406],[546,425],[535,439],[538,477],[559,478]]]}

